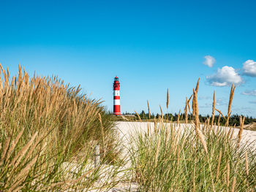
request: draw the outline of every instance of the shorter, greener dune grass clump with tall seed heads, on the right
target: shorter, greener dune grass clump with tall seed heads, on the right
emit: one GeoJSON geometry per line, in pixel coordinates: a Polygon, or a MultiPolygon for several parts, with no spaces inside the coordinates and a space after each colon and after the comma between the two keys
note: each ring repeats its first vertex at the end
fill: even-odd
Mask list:
{"type": "MultiPolygon", "coordinates": [[[[138,131],[132,137],[129,153],[133,179],[138,183],[139,191],[256,190],[255,142],[241,143],[244,118],[241,118],[237,136],[233,134],[233,128],[224,130],[213,125],[213,120],[208,119],[204,125],[200,123],[198,85],[199,80],[192,97],[192,128],[184,124],[181,128],[179,123],[164,123],[161,115],[154,127],[148,128],[146,133],[138,131]]],[[[234,90],[232,86],[228,117],[234,90]]],[[[188,107],[187,100],[185,113],[188,107]]],[[[216,110],[215,91],[213,110],[216,110]]]]}

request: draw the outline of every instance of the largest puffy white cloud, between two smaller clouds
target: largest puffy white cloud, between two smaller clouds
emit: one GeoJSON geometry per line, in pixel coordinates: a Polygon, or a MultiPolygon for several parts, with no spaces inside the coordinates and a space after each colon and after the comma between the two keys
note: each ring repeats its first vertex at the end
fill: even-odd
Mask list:
{"type": "Polygon", "coordinates": [[[223,66],[222,69],[217,70],[216,74],[206,76],[206,79],[211,85],[217,87],[229,86],[232,83],[240,85],[243,82],[242,77],[232,66],[223,66]]]}

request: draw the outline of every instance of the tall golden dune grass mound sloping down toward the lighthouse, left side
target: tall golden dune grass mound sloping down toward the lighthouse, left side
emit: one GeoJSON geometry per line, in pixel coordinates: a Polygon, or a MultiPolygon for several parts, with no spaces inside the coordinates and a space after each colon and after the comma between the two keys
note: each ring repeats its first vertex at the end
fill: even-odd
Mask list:
{"type": "Polygon", "coordinates": [[[19,66],[18,76],[11,78],[0,67],[0,191],[86,191],[113,185],[106,178],[99,183],[102,174],[116,175],[100,170],[115,164],[120,153],[102,101],[57,77],[30,78],[19,66]],[[97,168],[92,164],[95,145],[102,155],[97,168]]]}

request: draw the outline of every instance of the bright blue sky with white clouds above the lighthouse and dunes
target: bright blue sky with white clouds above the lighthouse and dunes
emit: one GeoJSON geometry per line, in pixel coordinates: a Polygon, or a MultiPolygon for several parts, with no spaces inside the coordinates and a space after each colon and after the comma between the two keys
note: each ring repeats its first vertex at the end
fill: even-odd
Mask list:
{"type": "MultiPolygon", "coordinates": [[[[199,112],[256,117],[255,1],[3,1],[0,62],[17,74],[58,75],[113,110],[113,77],[121,112],[184,109],[200,77],[199,112]]],[[[164,110],[167,112],[167,110],[164,110]]]]}

